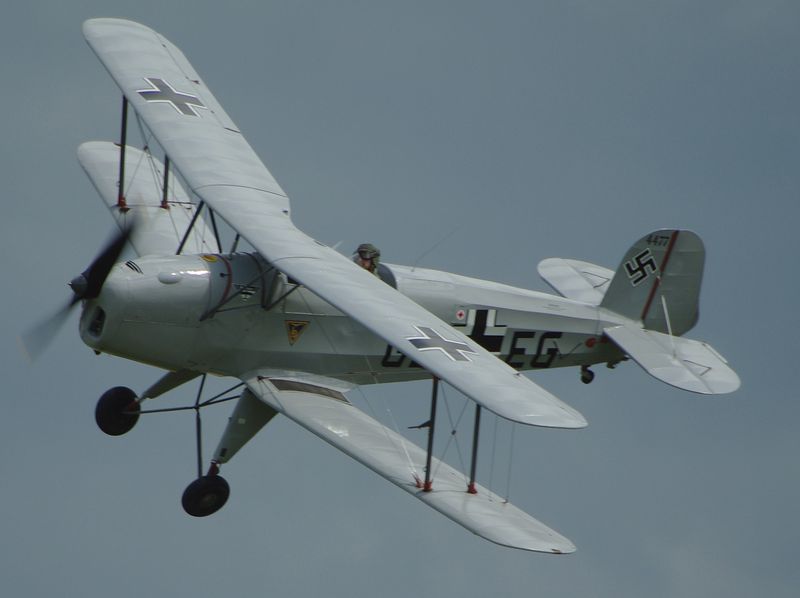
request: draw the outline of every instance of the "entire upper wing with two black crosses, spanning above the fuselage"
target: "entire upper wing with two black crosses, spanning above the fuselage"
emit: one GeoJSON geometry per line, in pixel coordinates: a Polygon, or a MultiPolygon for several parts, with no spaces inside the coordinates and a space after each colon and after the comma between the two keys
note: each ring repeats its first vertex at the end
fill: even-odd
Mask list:
{"type": "Polygon", "coordinates": [[[283,190],[175,46],[118,19],[87,21],[84,35],[192,190],[276,268],[490,411],[530,425],[586,425],[576,410],[298,230],[283,190]]]}

